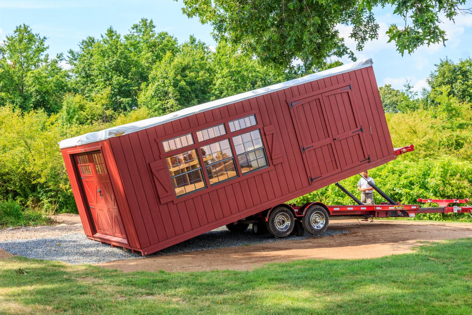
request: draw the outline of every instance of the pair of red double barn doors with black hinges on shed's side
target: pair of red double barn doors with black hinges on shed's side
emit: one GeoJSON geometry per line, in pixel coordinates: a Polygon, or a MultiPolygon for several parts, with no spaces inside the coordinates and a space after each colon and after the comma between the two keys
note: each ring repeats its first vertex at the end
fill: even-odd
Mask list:
{"type": "Polygon", "coordinates": [[[292,119],[310,179],[322,179],[369,161],[351,87],[298,96],[292,119]]]}

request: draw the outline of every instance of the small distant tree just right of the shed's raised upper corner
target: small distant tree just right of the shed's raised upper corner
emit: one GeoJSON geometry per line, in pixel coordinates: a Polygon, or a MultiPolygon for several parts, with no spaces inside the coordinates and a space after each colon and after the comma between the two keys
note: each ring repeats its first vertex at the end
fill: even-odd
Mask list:
{"type": "Polygon", "coordinates": [[[392,85],[386,84],[379,87],[380,98],[385,112],[397,113],[415,111],[420,108],[419,101],[413,99],[415,94],[409,82],[405,85],[405,90],[396,90],[392,85]]]}

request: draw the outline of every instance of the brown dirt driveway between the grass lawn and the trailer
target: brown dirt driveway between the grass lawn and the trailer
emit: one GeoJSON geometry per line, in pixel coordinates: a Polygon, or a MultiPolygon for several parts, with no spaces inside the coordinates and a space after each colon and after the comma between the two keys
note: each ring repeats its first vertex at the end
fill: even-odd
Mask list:
{"type": "Polygon", "coordinates": [[[330,229],[347,230],[349,234],[150,256],[98,265],[125,272],[251,270],[267,263],[297,259],[360,259],[410,253],[413,247],[424,241],[472,237],[472,224],[455,222],[337,220],[330,222],[330,229]]]}

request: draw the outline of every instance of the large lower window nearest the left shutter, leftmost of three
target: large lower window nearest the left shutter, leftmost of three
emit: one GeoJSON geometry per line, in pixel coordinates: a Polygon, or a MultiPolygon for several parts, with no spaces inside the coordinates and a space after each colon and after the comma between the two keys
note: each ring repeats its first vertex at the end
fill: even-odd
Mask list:
{"type": "Polygon", "coordinates": [[[177,197],[205,187],[196,149],[170,156],[166,161],[177,197]]]}

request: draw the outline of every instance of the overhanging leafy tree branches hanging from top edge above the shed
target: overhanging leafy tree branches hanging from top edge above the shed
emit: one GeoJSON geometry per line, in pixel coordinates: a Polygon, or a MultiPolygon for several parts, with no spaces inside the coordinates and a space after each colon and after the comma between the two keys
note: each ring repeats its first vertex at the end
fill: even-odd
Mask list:
{"type": "MultiPolygon", "coordinates": [[[[309,56],[319,65],[329,55],[346,52],[338,24],[351,25],[351,38],[362,50],[378,37],[379,25],[372,9],[393,6],[394,14],[405,19],[405,27],[391,25],[387,34],[403,55],[423,44],[446,41],[439,25],[442,15],[453,18],[465,0],[183,0],[182,11],[213,26],[217,42],[258,56],[264,63],[289,67],[296,59],[309,56]]],[[[465,10],[463,10],[465,12],[465,10]]]]}

